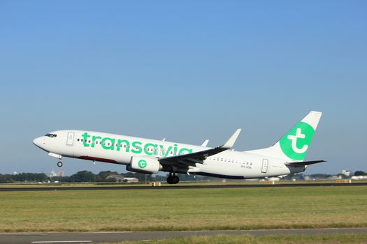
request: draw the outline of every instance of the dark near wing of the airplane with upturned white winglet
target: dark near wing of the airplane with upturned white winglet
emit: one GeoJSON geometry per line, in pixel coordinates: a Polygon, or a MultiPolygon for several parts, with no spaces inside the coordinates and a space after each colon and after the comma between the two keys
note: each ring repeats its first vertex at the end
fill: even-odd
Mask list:
{"type": "Polygon", "coordinates": [[[194,165],[195,163],[203,163],[203,160],[210,157],[211,155],[215,155],[217,153],[221,153],[222,151],[226,151],[231,148],[233,144],[236,142],[238,135],[240,135],[241,129],[236,130],[234,134],[229,138],[229,140],[223,144],[222,146],[217,146],[215,148],[210,148],[208,150],[199,151],[195,153],[188,153],[182,155],[176,155],[172,157],[159,158],[159,162],[161,165],[171,165],[177,167],[187,167],[189,165],[194,165]]]}

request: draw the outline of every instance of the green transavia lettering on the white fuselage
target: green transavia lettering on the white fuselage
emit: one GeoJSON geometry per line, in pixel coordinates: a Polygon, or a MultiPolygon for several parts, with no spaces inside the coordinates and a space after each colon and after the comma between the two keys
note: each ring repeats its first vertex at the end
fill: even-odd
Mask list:
{"type": "Polygon", "coordinates": [[[173,155],[181,155],[184,153],[192,153],[190,148],[178,148],[178,144],[172,146],[164,146],[161,144],[130,142],[127,139],[116,139],[111,137],[99,137],[96,135],[88,135],[88,132],[82,134],[82,142],[85,147],[94,148],[100,145],[105,150],[125,151],[127,153],[145,153],[145,155],[168,157],[173,155]]]}

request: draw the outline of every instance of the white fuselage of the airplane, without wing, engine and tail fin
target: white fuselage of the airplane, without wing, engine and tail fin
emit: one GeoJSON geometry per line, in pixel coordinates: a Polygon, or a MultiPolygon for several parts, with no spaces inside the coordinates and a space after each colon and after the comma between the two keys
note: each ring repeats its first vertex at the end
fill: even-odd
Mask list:
{"type": "MultiPolygon", "coordinates": [[[[34,144],[57,158],[69,157],[129,165],[133,156],[165,158],[204,151],[208,147],[166,142],[154,139],[114,135],[85,130],[58,130],[55,137],[38,137],[34,144]]],[[[305,170],[305,166],[290,167],[280,158],[271,158],[251,151],[223,151],[196,163],[187,171],[222,178],[264,178],[283,176],[305,170]]],[[[167,170],[163,170],[167,171],[167,170]]]]}

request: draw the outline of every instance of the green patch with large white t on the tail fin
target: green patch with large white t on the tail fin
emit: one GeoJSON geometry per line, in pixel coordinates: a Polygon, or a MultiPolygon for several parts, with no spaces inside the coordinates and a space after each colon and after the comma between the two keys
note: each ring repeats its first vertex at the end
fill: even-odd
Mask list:
{"type": "Polygon", "coordinates": [[[288,158],[303,160],[314,134],[312,126],[301,121],[280,139],[280,148],[288,158]]]}

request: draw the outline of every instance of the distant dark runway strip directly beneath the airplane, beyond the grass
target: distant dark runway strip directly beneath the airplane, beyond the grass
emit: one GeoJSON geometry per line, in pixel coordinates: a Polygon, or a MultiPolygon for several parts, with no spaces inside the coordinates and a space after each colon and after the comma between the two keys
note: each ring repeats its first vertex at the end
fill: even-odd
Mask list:
{"type": "Polygon", "coordinates": [[[275,183],[275,185],[265,185],[265,184],[236,184],[236,185],[162,185],[158,187],[152,187],[148,185],[138,186],[48,186],[48,187],[9,187],[0,188],[0,192],[31,192],[31,191],[47,191],[47,190],[172,190],[172,189],[215,189],[215,188],[294,188],[294,187],[338,187],[338,186],[357,186],[357,185],[367,185],[367,182],[358,183],[275,183]]]}

